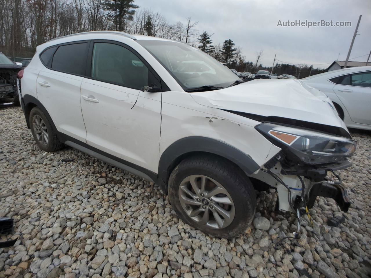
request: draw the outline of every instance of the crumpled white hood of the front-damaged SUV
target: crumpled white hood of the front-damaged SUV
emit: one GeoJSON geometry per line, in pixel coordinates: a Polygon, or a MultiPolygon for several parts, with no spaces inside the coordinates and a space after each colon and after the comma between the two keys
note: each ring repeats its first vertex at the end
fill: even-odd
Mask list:
{"type": "Polygon", "coordinates": [[[204,106],[303,120],[348,131],[331,100],[300,80],[252,80],[225,89],[191,93],[191,96],[204,106]]]}

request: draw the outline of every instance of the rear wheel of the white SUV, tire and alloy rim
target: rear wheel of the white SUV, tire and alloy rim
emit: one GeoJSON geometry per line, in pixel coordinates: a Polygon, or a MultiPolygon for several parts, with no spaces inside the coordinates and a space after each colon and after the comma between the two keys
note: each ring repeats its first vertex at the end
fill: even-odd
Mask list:
{"type": "Polygon", "coordinates": [[[40,149],[54,152],[62,148],[63,143],[58,140],[52,125],[39,107],[32,108],[29,120],[33,138],[40,149]]]}

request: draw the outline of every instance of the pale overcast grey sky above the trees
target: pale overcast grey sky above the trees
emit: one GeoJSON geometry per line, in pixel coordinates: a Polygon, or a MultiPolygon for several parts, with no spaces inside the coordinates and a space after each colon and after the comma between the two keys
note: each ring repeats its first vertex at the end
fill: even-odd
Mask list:
{"type": "Polygon", "coordinates": [[[371,50],[370,0],[135,0],[135,4],[163,14],[170,24],[191,17],[198,21],[200,33],[213,34],[214,44],[232,39],[242,47],[246,61],[255,62],[256,52],[263,50],[263,66],[272,66],[275,53],[282,62],[320,68],[345,60],[360,15],[350,58],[362,57],[350,61],[366,61],[371,50]],[[351,26],[278,26],[288,20],[350,21],[351,26]]]}

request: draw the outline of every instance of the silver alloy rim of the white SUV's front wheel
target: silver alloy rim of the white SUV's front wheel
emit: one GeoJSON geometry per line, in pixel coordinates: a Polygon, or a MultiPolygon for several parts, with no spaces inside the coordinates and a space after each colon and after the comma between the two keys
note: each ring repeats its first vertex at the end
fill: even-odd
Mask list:
{"type": "Polygon", "coordinates": [[[178,189],[185,213],[198,225],[222,229],[234,219],[234,203],[228,191],[217,181],[204,175],[185,178],[178,189]]]}

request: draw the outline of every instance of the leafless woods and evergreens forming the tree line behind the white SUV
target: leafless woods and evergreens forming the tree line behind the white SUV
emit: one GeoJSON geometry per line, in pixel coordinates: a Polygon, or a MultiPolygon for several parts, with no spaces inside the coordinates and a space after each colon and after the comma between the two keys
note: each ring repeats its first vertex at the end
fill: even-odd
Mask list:
{"type": "MultiPolygon", "coordinates": [[[[37,45],[56,37],[115,30],[186,42],[239,72],[267,69],[259,63],[262,50],[254,62],[246,61],[242,47],[231,39],[213,44],[212,35],[199,32],[197,25],[191,17],[169,23],[161,13],[139,7],[135,0],[0,0],[0,51],[12,57],[32,57],[37,45]]],[[[293,67],[276,64],[273,70],[291,74],[293,67]]],[[[312,74],[318,71],[312,70],[312,74]]]]}

